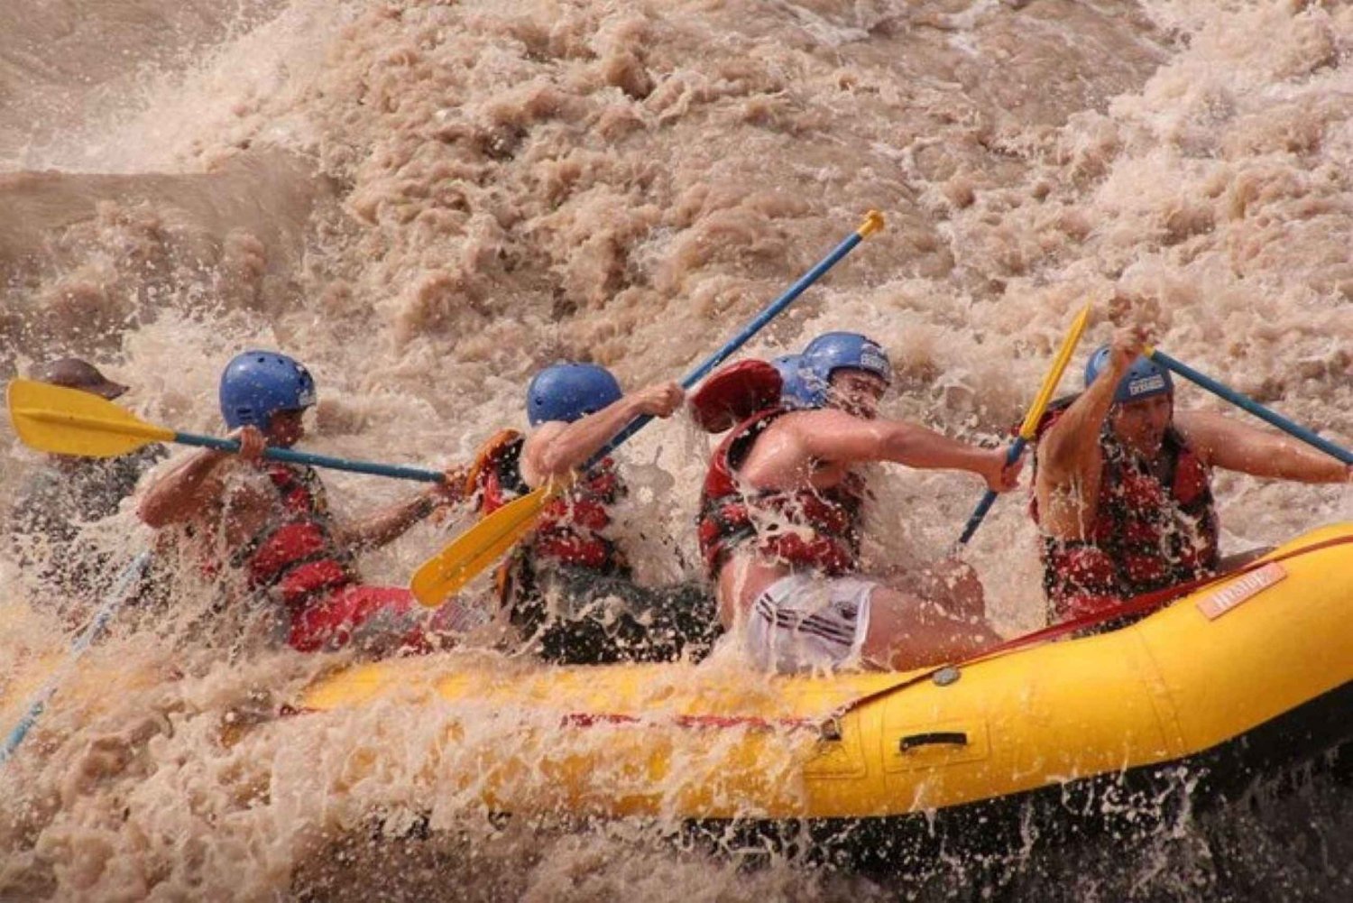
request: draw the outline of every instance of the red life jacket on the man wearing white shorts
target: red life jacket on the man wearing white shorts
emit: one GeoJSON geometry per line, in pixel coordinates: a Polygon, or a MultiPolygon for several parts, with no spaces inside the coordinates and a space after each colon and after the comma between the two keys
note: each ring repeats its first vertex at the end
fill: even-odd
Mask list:
{"type": "Polygon", "coordinates": [[[824,574],[858,569],[865,481],[847,474],[828,489],[767,489],[740,486],[737,468],[771,422],[790,413],[771,408],[744,420],[714,449],[700,493],[700,551],[712,578],[743,543],[792,566],[824,574]]]}

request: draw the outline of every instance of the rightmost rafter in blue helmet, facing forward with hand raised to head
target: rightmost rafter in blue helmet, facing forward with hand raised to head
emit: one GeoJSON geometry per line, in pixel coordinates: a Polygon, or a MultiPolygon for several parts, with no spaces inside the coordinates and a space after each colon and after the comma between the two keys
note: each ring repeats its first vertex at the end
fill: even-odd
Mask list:
{"type": "Polygon", "coordinates": [[[1031,514],[1049,620],[1111,617],[1120,602],[1229,569],[1212,470],[1302,482],[1353,468],[1212,412],[1178,412],[1168,370],[1119,329],[1091,355],[1085,391],[1038,437],[1031,514]]]}

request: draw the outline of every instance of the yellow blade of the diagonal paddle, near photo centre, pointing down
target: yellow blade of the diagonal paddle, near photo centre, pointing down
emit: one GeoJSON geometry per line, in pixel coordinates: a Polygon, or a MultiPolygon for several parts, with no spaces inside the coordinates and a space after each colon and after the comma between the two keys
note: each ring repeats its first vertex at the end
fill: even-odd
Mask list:
{"type": "Polygon", "coordinates": [[[561,485],[548,483],[503,505],[423,562],[409,589],[428,608],[441,605],[529,533],[561,490],[561,485]]]}

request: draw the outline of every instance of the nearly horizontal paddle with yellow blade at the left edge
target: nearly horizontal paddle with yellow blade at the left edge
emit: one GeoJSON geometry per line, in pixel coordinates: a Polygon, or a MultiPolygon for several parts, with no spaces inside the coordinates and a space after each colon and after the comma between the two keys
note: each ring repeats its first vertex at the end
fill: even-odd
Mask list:
{"type": "MultiPolygon", "coordinates": [[[[5,399],[9,406],[9,420],[19,439],[31,448],[54,455],[114,458],[154,441],[202,445],[227,452],[239,451],[239,443],[234,439],[176,433],[166,426],[147,424],[111,401],[77,389],[14,379],[9,382],[5,399]]],[[[267,448],[264,458],[349,470],[356,474],[418,479],[425,483],[442,482],[442,475],[434,470],[346,460],[291,448],[267,448]]]]}

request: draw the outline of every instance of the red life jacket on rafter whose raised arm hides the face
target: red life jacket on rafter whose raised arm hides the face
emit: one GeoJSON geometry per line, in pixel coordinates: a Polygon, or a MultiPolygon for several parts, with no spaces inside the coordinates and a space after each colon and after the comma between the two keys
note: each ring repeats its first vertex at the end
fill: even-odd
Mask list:
{"type": "MultiPolygon", "coordinates": [[[[530,491],[521,477],[525,443],[521,433],[503,431],[479,455],[472,474],[482,514],[491,514],[530,491]]],[[[610,527],[610,506],[624,494],[616,462],[602,459],[541,512],[526,543],[530,555],[536,560],[548,559],[605,573],[625,571],[625,556],[614,542],[602,535],[610,527]]]]}

